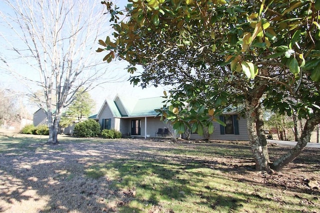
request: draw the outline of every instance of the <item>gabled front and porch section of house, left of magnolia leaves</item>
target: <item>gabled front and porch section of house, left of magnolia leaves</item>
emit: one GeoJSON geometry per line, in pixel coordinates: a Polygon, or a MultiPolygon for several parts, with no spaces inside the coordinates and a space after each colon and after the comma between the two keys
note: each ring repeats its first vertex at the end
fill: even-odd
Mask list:
{"type": "Polygon", "coordinates": [[[153,137],[159,128],[165,128],[154,109],[163,107],[161,97],[139,100],[105,100],[97,113],[102,129],[114,129],[123,136],[153,137]]]}

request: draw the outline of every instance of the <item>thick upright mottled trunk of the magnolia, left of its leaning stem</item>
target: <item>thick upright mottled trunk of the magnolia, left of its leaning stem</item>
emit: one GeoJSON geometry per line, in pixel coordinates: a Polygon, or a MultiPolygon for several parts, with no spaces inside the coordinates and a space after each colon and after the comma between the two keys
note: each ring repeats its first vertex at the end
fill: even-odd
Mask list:
{"type": "MultiPolygon", "coordinates": [[[[255,162],[255,169],[256,170],[264,170],[269,172],[269,156],[267,151],[267,143],[264,138],[263,133],[261,133],[262,126],[261,120],[259,116],[259,102],[257,101],[256,104],[250,103],[249,101],[245,101],[246,107],[246,119],[247,119],[247,129],[249,135],[249,142],[251,146],[251,150],[253,153],[253,158],[255,162]],[[255,105],[255,107],[253,107],[255,105]],[[256,120],[256,118],[258,118],[256,120]],[[259,133],[257,133],[259,132],[259,133]],[[264,138],[264,140],[262,139],[264,138]],[[262,139],[262,140],[261,140],[262,139]]],[[[262,122],[263,124],[263,122],[262,122]]]]}

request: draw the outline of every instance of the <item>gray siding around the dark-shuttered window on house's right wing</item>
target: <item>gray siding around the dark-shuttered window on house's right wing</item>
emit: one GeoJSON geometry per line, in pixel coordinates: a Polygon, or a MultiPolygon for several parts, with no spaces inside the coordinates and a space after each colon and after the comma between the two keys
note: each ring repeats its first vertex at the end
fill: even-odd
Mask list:
{"type": "MultiPolygon", "coordinates": [[[[217,122],[213,122],[213,134],[211,135],[211,140],[230,140],[230,141],[248,141],[248,131],[246,127],[246,119],[240,118],[238,120],[238,127],[239,127],[239,135],[234,134],[220,134],[220,125],[217,122]]],[[[203,139],[203,136],[200,136],[198,134],[191,134],[191,139],[203,139]]]]}

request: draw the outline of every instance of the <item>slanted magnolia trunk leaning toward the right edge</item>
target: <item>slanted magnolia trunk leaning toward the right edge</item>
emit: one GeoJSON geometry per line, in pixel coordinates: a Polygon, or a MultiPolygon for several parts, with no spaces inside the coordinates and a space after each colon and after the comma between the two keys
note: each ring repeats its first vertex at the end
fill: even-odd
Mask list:
{"type": "Polygon", "coordinates": [[[301,132],[301,136],[299,137],[295,147],[291,149],[289,152],[287,152],[286,154],[284,154],[283,156],[281,156],[279,159],[274,161],[270,165],[270,168],[275,171],[280,171],[284,166],[292,162],[302,152],[306,144],[310,141],[312,131],[314,127],[319,123],[320,123],[320,115],[318,114],[308,119],[305,122],[303,131],[301,132]]]}

